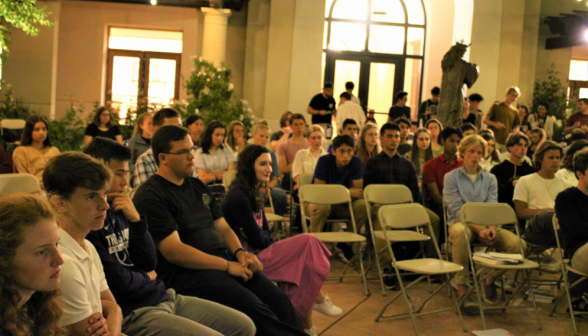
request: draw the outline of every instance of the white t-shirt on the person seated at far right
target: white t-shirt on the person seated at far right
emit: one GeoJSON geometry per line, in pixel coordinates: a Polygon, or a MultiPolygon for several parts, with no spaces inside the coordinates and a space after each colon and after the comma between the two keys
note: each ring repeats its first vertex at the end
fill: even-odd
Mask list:
{"type": "Polygon", "coordinates": [[[512,200],[527,203],[529,209],[553,209],[557,194],[573,186],[560,177],[547,180],[534,173],[521,177],[515,186],[512,200]]]}

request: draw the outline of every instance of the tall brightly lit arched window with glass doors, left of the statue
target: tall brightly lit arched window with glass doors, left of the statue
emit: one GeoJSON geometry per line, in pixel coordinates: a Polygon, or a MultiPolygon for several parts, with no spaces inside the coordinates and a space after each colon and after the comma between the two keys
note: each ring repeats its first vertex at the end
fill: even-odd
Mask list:
{"type": "Polygon", "coordinates": [[[406,91],[416,120],[425,22],[422,0],[327,0],[323,79],[333,82],[335,98],[354,82],[354,94],[380,124],[396,92],[406,91]]]}

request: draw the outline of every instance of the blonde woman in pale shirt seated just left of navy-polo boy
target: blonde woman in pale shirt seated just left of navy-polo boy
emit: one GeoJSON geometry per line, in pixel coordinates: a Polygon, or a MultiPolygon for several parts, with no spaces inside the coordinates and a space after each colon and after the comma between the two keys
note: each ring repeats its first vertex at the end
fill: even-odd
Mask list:
{"type": "Polygon", "coordinates": [[[323,148],[325,130],[320,125],[311,125],[308,127],[307,140],[310,147],[299,150],[292,164],[292,178],[296,183],[294,190],[298,189],[298,178],[300,174],[314,174],[314,168],[318,159],[327,154],[327,151],[323,148]]]}

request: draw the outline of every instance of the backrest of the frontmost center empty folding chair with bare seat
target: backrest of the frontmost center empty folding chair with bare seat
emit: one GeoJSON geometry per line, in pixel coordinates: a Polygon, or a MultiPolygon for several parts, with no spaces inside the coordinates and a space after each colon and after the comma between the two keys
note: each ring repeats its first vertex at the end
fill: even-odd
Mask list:
{"type": "Polygon", "coordinates": [[[385,205],[378,211],[382,226],[392,229],[409,229],[429,224],[429,215],[418,203],[385,205]]]}

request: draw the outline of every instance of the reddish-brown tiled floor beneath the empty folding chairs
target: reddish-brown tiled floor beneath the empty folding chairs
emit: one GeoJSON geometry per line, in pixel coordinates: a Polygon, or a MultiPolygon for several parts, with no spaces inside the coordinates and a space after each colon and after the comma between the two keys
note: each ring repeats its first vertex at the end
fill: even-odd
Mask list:
{"type": "MultiPolygon", "coordinates": [[[[331,274],[335,274],[343,269],[343,264],[338,261],[332,261],[331,274]]],[[[376,276],[375,272],[372,272],[376,276]]],[[[363,285],[358,278],[345,279],[343,283],[336,281],[325,282],[323,289],[331,297],[333,303],[348,313],[354,307],[351,313],[341,318],[326,317],[315,313],[314,321],[317,327],[317,333],[329,336],[346,336],[346,335],[414,335],[414,330],[410,318],[405,319],[387,319],[375,322],[381,308],[395,295],[396,291],[388,291],[388,296],[382,296],[381,287],[378,280],[368,281],[368,288],[371,295],[367,297],[363,292],[363,285]],[[362,302],[362,300],[365,300],[362,302]],[[336,323],[335,323],[336,322],[336,323]]],[[[415,300],[423,299],[428,295],[426,282],[423,282],[409,293],[413,293],[415,300]]],[[[527,302],[523,302],[526,304],[527,302]]],[[[446,305],[451,305],[452,300],[447,297],[447,291],[440,293],[429,302],[425,311],[440,309],[446,305]]],[[[565,311],[565,302],[562,302],[560,310],[565,311]]],[[[573,335],[572,323],[569,315],[549,317],[551,304],[539,303],[539,314],[543,330],[537,329],[535,314],[532,308],[520,308],[507,310],[506,313],[485,314],[488,329],[503,328],[513,335],[554,335],[564,336],[573,335]]],[[[404,312],[406,305],[402,298],[399,298],[388,312],[404,312]]],[[[428,315],[417,318],[418,328],[421,335],[449,336],[449,335],[471,335],[473,330],[481,330],[482,322],[479,314],[464,315],[464,320],[468,328],[465,333],[462,330],[459,318],[454,312],[443,312],[434,315],[428,315]]],[[[588,318],[578,317],[578,332],[580,335],[588,335],[588,318]]]]}

